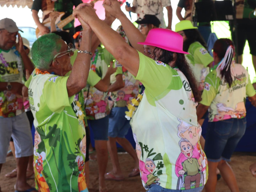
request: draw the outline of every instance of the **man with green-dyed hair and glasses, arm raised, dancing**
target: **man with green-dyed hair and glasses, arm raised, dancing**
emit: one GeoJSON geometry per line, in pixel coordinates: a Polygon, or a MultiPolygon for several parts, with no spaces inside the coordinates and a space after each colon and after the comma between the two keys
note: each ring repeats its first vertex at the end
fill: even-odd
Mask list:
{"type": "Polygon", "coordinates": [[[47,34],[32,46],[37,67],[29,85],[29,102],[35,118],[34,169],[36,187],[43,192],[88,192],[84,177],[86,137],[79,97],[90,70],[90,27],[84,28],[73,65],[74,49],[60,36],[47,34]],[[65,76],[72,69],[70,76],[65,76]]]}

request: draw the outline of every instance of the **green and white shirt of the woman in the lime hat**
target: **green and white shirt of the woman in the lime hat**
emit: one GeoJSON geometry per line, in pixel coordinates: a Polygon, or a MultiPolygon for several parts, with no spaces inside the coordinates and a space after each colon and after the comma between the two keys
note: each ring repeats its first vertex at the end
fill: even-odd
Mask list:
{"type": "Polygon", "coordinates": [[[210,72],[207,66],[213,61],[213,58],[198,41],[189,46],[188,52],[189,55],[185,55],[186,61],[189,63],[199,83],[199,90],[204,90],[204,80],[210,72]]]}

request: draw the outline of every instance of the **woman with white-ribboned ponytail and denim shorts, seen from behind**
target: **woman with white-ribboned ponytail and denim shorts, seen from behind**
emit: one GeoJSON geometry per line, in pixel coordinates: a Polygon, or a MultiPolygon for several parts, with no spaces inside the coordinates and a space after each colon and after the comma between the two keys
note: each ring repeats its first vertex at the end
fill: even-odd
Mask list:
{"type": "Polygon", "coordinates": [[[234,44],[230,39],[215,42],[213,58],[218,67],[206,77],[202,101],[197,108],[198,120],[209,108],[204,148],[209,163],[209,178],[205,186],[207,192],[215,192],[217,168],[230,190],[239,191],[236,177],[227,162],[246,129],[246,96],[256,107],[256,92],[248,72],[241,64],[233,62],[234,54],[234,44]]]}

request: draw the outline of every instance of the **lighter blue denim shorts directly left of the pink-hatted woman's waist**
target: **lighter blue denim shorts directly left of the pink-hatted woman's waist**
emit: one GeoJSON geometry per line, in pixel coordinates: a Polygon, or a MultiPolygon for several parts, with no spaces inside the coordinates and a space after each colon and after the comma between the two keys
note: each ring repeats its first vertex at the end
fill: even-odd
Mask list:
{"type": "Polygon", "coordinates": [[[124,138],[131,128],[130,121],[125,118],[127,107],[113,108],[109,115],[108,137],[124,138]]]}

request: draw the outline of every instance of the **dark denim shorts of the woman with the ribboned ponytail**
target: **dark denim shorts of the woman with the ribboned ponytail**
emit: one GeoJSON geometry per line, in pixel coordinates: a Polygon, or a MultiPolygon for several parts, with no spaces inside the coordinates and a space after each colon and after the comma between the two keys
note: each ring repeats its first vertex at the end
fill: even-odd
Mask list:
{"type": "Polygon", "coordinates": [[[209,122],[204,152],[212,162],[230,161],[246,130],[246,118],[209,122]]]}

